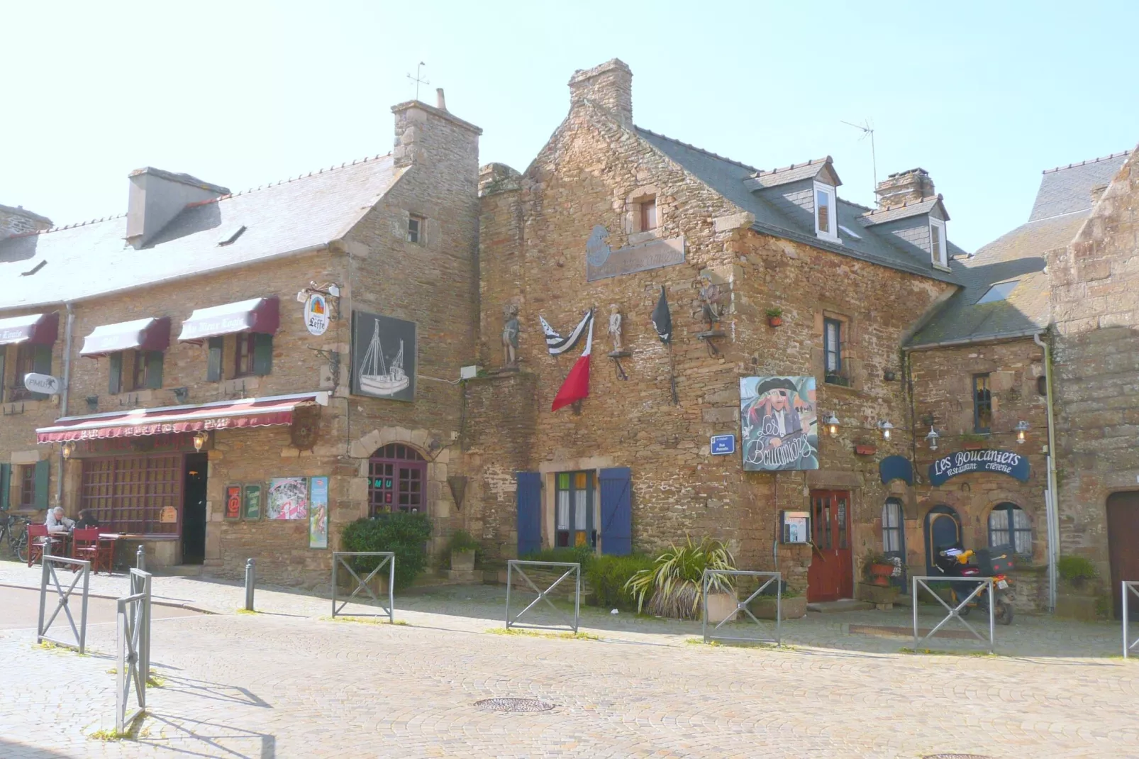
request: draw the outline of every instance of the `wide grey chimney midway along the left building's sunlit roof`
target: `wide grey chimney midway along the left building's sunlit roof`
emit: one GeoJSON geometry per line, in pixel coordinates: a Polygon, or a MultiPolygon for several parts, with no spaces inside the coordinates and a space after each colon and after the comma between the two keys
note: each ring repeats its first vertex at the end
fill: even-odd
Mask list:
{"type": "Polygon", "coordinates": [[[226,187],[150,166],[136,169],[129,179],[131,191],[126,201],[126,242],[134,248],[150,242],[190,203],[229,195],[226,187]]]}

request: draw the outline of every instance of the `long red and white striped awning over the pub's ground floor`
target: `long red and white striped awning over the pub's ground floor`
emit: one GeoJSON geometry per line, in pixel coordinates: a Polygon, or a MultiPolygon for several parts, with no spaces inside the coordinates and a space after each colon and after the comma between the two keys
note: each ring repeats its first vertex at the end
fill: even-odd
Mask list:
{"type": "Polygon", "coordinates": [[[65,416],[50,427],[35,431],[36,442],[52,443],[98,438],[134,438],[202,430],[239,430],[292,424],[302,403],[328,406],[327,392],[244,398],[195,406],[139,408],[125,414],[65,416]]]}

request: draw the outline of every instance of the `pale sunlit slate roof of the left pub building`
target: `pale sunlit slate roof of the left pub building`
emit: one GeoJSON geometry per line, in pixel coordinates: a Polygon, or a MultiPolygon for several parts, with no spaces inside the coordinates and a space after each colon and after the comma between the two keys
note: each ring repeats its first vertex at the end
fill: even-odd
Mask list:
{"type": "Polygon", "coordinates": [[[0,310],[107,295],[327,245],[400,176],[383,155],[195,203],[141,250],[125,242],[125,215],[9,237],[0,240],[0,310]],[[219,245],[241,227],[237,239],[219,245]]]}

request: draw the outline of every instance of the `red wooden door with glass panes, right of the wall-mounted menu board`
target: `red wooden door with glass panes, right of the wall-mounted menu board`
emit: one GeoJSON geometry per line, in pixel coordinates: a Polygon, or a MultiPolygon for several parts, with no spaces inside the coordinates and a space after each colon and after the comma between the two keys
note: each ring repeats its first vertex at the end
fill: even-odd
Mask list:
{"type": "Polygon", "coordinates": [[[811,491],[811,540],[814,545],[811,566],[806,570],[808,601],[854,596],[850,506],[849,491],[811,491]]]}

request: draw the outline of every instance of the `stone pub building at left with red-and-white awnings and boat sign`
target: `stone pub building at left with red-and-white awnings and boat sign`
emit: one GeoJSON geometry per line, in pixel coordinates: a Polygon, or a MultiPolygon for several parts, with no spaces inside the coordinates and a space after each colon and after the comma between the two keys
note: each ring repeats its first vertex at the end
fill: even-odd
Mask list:
{"type": "Polygon", "coordinates": [[[0,506],[278,581],[378,511],[448,533],[481,130],[442,92],[392,111],[390,154],[241,193],[147,168],[121,217],[0,206],[0,506]]]}

